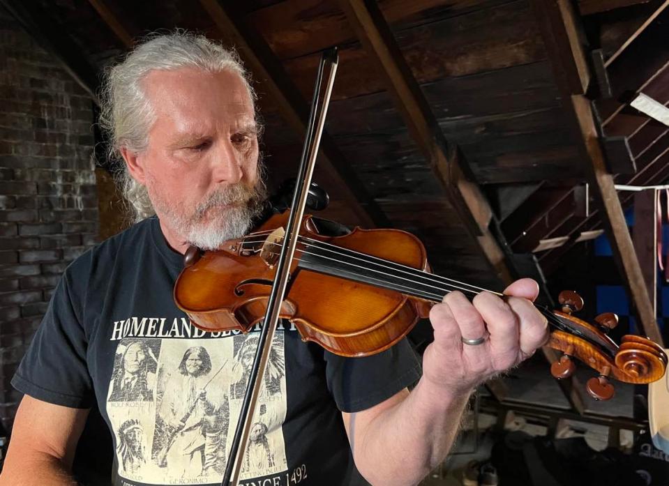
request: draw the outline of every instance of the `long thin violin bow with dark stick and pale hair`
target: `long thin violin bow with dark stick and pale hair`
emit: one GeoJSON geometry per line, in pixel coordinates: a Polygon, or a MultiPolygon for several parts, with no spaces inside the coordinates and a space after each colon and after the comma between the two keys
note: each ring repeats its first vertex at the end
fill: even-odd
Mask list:
{"type": "Polygon", "coordinates": [[[285,296],[288,279],[290,278],[290,265],[297,246],[299,229],[304,215],[307,196],[309,194],[308,188],[311,184],[311,176],[313,175],[316,155],[318,153],[318,147],[320,145],[320,139],[325,124],[325,115],[327,113],[332,86],[337,72],[337,63],[338,54],[336,47],[323,52],[318,65],[307,133],[304,139],[299,175],[295,184],[295,192],[293,193],[290,215],[286,225],[286,233],[283,238],[283,245],[281,246],[279,259],[276,264],[276,274],[272,284],[271,293],[269,294],[269,300],[267,301],[267,310],[263,321],[264,324],[260,331],[258,347],[255,351],[253,366],[251,367],[248,383],[246,384],[246,393],[244,394],[241,410],[239,411],[234,438],[232,439],[230,453],[228,454],[227,462],[225,464],[225,474],[220,483],[221,486],[229,486],[231,479],[233,485],[239,483],[241,465],[248,444],[248,436],[250,434],[251,423],[253,422],[253,414],[255,413],[255,405],[257,403],[258,395],[260,395],[262,378],[264,377],[267,367],[269,351],[272,346],[274,331],[276,331],[276,324],[279,318],[279,311],[285,296]],[[329,66],[329,72],[324,95],[321,100],[320,95],[323,84],[323,73],[326,66],[329,66]]]}

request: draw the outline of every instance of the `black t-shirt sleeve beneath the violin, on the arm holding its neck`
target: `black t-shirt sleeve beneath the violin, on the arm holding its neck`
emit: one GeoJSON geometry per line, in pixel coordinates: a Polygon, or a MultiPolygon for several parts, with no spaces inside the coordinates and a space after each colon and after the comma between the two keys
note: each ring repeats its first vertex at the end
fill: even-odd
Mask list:
{"type": "Polygon", "coordinates": [[[352,413],[373,407],[416,383],[422,370],[406,339],[365,358],[325,351],[326,379],[338,409],[352,413]]]}

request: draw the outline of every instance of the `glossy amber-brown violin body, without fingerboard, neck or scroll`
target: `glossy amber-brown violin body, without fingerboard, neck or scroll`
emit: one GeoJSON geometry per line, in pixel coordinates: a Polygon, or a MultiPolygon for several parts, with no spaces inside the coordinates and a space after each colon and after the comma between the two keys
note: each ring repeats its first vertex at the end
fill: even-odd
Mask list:
{"type": "MultiPolygon", "coordinates": [[[[174,301],[195,326],[246,333],[264,318],[276,273],[273,261],[280,250],[280,234],[278,243],[272,243],[271,231],[286,223],[287,213],[274,215],[251,236],[228,241],[224,248],[206,252],[184,268],[174,287],[174,301]],[[254,239],[254,234],[264,237],[254,239]]],[[[324,236],[306,215],[300,236],[416,270],[428,268],[423,244],[405,231],[356,228],[345,236],[324,236]]],[[[433,303],[313,271],[304,253],[300,248],[296,251],[280,312],[280,317],[294,323],[303,340],[340,356],[368,356],[393,346],[420,318],[428,317],[433,303]]]]}

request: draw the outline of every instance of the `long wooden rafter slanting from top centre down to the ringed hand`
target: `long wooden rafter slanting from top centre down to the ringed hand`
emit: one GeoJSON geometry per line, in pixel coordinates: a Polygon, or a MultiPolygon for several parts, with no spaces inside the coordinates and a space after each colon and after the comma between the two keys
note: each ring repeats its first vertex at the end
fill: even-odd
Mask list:
{"type": "MultiPolygon", "coordinates": [[[[374,1],[340,0],[357,36],[377,59],[386,86],[403,115],[412,137],[430,162],[435,176],[451,197],[458,213],[476,238],[481,252],[495,269],[502,282],[512,280],[513,271],[499,243],[490,231],[493,211],[478,186],[464,177],[464,163],[455,146],[449,144],[421,92],[416,79],[403,58],[388,24],[374,1]]],[[[549,363],[559,359],[554,349],[544,347],[543,355],[549,363]]],[[[574,377],[559,381],[559,386],[573,409],[584,413],[585,404],[574,377]]]]}

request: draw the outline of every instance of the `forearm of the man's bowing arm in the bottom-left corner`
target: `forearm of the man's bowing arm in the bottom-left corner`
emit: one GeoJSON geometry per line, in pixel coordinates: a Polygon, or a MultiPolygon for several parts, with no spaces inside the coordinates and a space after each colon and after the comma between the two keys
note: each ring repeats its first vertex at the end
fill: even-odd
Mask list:
{"type": "Polygon", "coordinates": [[[66,465],[56,457],[35,453],[14,461],[8,454],[0,486],[77,486],[66,465]]]}

